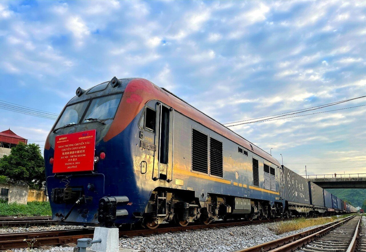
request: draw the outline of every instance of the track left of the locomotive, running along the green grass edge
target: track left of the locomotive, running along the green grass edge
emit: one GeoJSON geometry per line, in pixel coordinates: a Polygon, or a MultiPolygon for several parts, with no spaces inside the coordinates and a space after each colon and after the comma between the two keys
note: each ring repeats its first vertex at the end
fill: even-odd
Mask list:
{"type": "Polygon", "coordinates": [[[48,225],[54,221],[51,216],[35,216],[35,217],[0,217],[0,227],[3,226],[32,226],[32,225],[48,225]]]}

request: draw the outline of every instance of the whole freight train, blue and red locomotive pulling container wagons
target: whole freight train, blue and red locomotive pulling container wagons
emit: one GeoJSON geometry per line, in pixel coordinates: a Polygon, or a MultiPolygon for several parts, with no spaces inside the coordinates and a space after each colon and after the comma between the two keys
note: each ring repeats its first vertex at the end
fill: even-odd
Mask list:
{"type": "Polygon", "coordinates": [[[44,150],[52,218],[186,226],[355,212],[167,89],[114,77],[63,108],[44,150]]]}

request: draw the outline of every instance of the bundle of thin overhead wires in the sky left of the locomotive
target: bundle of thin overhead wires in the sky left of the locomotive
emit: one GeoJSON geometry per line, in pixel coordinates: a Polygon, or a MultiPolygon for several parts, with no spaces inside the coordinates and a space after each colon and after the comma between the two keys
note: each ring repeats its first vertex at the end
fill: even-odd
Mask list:
{"type": "Polygon", "coordinates": [[[38,110],[36,108],[26,107],[26,106],[22,106],[22,105],[19,105],[16,103],[6,102],[4,100],[0,100],[0,108],[4,109],[4,110],[12,111],[12,112],[17,112],[20,114],[32,115],[34,117],[40,117],[40,118],[51,119],[51,120],[56,120],[58,117],[58,114],[56,114],[56,113],[47,112],[44,110],[38,110]]]}

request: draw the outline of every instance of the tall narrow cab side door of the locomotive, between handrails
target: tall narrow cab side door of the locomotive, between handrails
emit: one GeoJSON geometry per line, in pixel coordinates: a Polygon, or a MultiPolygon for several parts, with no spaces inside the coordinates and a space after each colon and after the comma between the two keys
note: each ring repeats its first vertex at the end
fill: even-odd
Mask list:
{"type": "Polygon", "coordinates": [[[170,182],[173,176],[173,131],[174,110],[158,102],[157,169],[154,180],[170,182]]]}

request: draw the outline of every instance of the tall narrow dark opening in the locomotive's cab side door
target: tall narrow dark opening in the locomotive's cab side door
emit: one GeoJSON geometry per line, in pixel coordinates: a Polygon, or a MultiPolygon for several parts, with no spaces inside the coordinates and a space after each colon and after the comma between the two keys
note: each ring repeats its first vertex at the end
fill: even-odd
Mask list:
{"type": "MultiPolygon", "coordinates": [[[[168,147],[169,147],[169,108],[162,107],[161,110],[161,138],[160,138],[160,157],[161,164],[168,163],[168,147]]],[[[146,118],[147,119],[147,118],[146,118]]]]}

